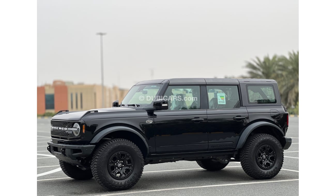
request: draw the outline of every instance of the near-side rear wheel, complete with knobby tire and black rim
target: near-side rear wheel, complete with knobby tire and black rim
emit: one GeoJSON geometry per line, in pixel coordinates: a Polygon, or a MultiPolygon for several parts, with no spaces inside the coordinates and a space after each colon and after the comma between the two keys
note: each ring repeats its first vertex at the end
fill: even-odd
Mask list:
{"type": "Polygon", "coordinates": [[[284,150],[277,138],[269,134],[250,136],[240,151],[245,173],[255,179],[271,179],[281,170],[284,150]]]}

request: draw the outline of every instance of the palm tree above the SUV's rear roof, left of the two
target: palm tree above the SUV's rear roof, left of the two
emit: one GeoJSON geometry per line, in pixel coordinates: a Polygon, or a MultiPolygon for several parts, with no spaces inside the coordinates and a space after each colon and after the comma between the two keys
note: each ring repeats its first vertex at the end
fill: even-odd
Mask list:
{"type": "Polygon", "coordinates": [[[265,56],[261,61],[259,57],[252,62],[246,62],[246,68],[249,69],[247,72],[251,78],[262,78],[262,79],[277,79],[278,78],[278,56],[274,55],[271,59],[269,56],[265,56]]]}

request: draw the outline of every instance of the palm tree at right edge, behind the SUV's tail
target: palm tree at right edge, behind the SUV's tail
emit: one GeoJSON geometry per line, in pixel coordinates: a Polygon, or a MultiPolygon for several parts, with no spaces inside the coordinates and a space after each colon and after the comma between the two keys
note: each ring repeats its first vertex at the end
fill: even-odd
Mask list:
{"type": "Polygon", "coordinates": [[[287,107],[294,107],[299,101],[299,51],[289,52],[288,58],[279,58],[279,89],[287,107]]]}

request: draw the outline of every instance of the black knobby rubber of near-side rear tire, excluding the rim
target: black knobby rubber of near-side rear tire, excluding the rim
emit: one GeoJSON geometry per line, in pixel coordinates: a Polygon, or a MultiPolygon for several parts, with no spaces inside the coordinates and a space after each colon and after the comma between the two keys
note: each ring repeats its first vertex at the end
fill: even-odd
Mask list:
{"type": "Polygon", "coordinates": [[[277,138],[269,134],[255,134],[247,138],[244,146],[240,150],[240,160],[244,172],[255,179],[271,179],[281,170],[284,162],[284,150],[277,138]],[[269,145],[274,149],[276,159],[274,165],[269,169],[259,167],[256,154],[263,145],[269,145]]]}

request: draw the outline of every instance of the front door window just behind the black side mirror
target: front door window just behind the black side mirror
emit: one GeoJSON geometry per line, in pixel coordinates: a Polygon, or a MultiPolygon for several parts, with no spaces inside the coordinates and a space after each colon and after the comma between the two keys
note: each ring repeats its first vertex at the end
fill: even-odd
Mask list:
{"type": "Polygon", "coordinates": [[[164,99],[168,99],[168,110],[200,109],[200,86],[168,86],[164,99]]]}

